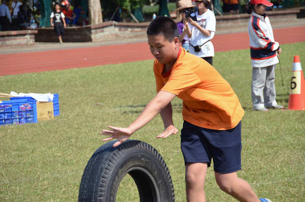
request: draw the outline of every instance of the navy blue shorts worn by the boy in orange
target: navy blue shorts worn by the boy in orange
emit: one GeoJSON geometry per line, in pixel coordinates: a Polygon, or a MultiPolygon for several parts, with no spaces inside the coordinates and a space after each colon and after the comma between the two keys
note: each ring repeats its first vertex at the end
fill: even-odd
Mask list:
{"type": "Polygon", "coordinates": [[[214,171],[229,174],[241,169],[241,122],[230,130],[211,130],[186,121],[181,130],[184,163],[208,163],[214,171]]]}

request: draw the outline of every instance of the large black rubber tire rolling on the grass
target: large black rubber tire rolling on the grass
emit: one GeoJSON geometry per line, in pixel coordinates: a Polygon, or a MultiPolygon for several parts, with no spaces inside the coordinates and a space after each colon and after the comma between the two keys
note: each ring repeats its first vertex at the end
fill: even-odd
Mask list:
{"type": "Polygon", "coordinates": [[[129,174],[141,202],[174,202],[170,171],[161,155],[148,143],[127,140],[101,146],[90,158],[82,175],[78,201],[115,202],[121,180],[129,174]]]}

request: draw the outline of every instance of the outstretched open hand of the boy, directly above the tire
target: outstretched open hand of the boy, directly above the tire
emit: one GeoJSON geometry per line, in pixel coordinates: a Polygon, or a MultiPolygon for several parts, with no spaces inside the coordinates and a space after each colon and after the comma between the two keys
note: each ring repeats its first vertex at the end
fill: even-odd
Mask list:
{"type": "Polygon", "coordinates": [[[132,135],[132,131],[128,128],[118,128],[113,126],[108,126],[108,128],[112,130],[102,130],[101,135],[109,135],[110,137],[103,139],[103,141],[112,140],[114,138],[117,138],[118,141],[114,144],[114,147],[117,147],[121,145],[121,143],[124,143],[130,135],[132,135]]]}

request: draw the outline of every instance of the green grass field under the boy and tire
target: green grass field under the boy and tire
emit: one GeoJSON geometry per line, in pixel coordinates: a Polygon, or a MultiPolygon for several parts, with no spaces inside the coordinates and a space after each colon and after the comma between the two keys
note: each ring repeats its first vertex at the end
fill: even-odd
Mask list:
{"type": "MultiPolygon", "coordinates": [[[[293,56],[305,69],[305,43],[281,45],[275,69],[277,101],[288,107],[293,56]]],[[[249,50],[215,53],[214,67],[229,81],[245,110],[242,119],[242,170],[259,197],[305,201],[305,111],[253,111],[249,50]]],[[[58,93],[60,116],[36,124],[0,127],[0,201],[77,201],[82,172],[103,144],[102,129],[127,127],[155,96],[153,60],[0,77],[0,92],[58,93]],[[96,105],[101,103],[102,105],[96,105]]],[[[175,98],[173,120],[182,128],[182,101],[175,98]]],[[[180,132],[166,139],[158,115],[132,139],[152,145],[167,163],[176,201],[186,201],[180,132]]],[[[220,191],[213,168],[206,179],[207,201],[236,201],[220,191]]],[[[117,201],[138,201],[125,177],[117,201]]]]}

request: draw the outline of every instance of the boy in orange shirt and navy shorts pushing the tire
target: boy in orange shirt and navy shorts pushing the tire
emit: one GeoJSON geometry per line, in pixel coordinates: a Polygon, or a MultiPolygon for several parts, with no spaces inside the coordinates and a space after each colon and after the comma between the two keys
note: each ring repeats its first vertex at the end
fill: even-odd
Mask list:
{"type": "Polygon", "coordinates": [[[214,162],[221,190],[240,201],[259,199],[250,185],[237,177],[241,169],[241,119],[244,110],[230,84],[205,60],[179,47],[179,31],[169,17],[155,18],[147,28],[148,44],[155,56],[157,95],[127,128],[108,126],[100,134],[117,138],[117,147],[160,113],[165,130],[157,138],[176,134],[171,101],[183,100],[181,150],[185,161],[187,201],[205,201],[207,168],[214,162]]]}

